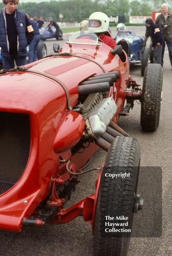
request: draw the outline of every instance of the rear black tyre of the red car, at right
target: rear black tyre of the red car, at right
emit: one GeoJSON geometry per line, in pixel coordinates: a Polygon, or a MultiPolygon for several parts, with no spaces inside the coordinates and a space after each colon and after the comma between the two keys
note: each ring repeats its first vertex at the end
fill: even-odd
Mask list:
{"type": "Polygon", "coordinates": [[[143,78],[141,100],[141,126],[145,131],[155,131],[159,126],[163,68],[148,64],[143,78]]]}

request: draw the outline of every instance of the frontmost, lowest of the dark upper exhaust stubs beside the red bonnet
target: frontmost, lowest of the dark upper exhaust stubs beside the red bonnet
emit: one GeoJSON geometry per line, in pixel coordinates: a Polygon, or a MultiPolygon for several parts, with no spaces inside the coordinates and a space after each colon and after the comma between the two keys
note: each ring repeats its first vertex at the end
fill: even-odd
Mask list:
{"type": "Polygon", "coordinates": [[[109,87],[110,87],[109,83],[107,82],[102,84],[81,85],[78,87],[78,94],[86,95],[86,94],[93,94],[93,93],[108,92],[109,87]]]}

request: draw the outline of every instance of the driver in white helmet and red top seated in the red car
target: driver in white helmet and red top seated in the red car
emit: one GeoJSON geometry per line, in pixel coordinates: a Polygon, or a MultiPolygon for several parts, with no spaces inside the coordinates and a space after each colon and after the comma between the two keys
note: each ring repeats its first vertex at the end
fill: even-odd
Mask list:
{"type": "Polygon", "coordinates": [[[108,32],[109,18],[103,12],[94,12],[88,19],[88,31],[96,33],[97,36],[107,45],[112,47],[116,46],[116,41],[110,36],[108,32]],[[105,34],[107,32],[107,34],[105,34]]]}

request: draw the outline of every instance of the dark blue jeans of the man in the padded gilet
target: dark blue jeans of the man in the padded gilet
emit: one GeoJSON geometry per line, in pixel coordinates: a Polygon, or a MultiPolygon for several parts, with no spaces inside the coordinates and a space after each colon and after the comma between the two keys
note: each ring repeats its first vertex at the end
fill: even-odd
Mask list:
{"type": "Polygon", "coordinates": [[[17,66],[23,66],[27,64],[26,57],[21,57],[18,55],[10,56],[9,58],[3,57],[3,68],[4,69],[11,69],[15,67],[15,63],[17,66]]]}

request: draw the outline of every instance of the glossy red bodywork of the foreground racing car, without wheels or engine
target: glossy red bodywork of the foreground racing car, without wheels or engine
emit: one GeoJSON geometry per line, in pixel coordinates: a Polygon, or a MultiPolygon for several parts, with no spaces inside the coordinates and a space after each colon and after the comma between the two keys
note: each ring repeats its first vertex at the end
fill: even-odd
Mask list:
{"type": "MultiPolygon", "coordinates": [[[[94,74],[102,74],[101,66],[106,70],[119,71],[120,78],[111,89],[118,107],[114,121],[124,107],[129,64],[123,63],[111,48],[102,44],[93,45],[64,44],[60,52],[70,52],[74,56],[52,56],[26,65],[31,70],[44,72],[57,77],[67,87],[70,104],[78,103],[78,85],[94,74]],[[92,60],[94,62],[92,62],[92,60]],[[97,62],[98,64],[96,64],[97,62]],[[100,66],[101,65],[101,66],[100,66]]],[[[71,160],[70,169],[77,171],[98,149],[92,142],[83,154],[72,153],[85,130],[85,121],[81,114],[67,109],[67,100],[61,86],[39,74],[30,72],[12,72],[0,76],[0,111],[29,115],[30,149],[28,163],[19,180],[6,192],[0,194],[0,229],[21,231],[25,220],[37,220],[37,206],[51,193],[47,205],[57,208],[57,214],[50,221],[54,224],[68,222],[78,215],[85,221],[93,222],[95,194],[88,196],[69,209],[63,208],[63,199],[59,199],[56,187],[71,180],[66,172],[65,161],[71,160]]],[[[100,175],[99,175],[100,180],[100,175]]],[[[99,181],[97,182],[98,187],[99,181]]]]}

